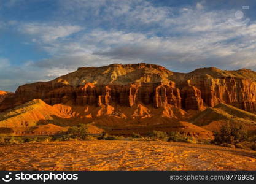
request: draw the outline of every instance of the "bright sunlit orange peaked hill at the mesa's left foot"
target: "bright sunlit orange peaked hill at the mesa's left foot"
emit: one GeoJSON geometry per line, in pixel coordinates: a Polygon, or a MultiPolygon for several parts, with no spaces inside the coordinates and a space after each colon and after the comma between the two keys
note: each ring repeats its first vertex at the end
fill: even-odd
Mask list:
{"type": "MultiPolygon", "coordinates": [[[[34,99],[0,113],[0,133],[16,135],[55,134],[66,131],[69,126],[77,125],[76,115],[63,112],[60,105],[52,107],[41,99],[34,99]]],[[[81,122],[81,121],[80,121],[81,122]]],[[[89,132],[99,133],[102,129],[89,123],[89,132]]]]}

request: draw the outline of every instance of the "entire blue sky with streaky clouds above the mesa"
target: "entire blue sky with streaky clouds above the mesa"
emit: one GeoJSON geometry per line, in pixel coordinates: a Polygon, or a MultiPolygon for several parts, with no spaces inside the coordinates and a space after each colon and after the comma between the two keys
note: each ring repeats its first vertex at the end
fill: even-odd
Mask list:
{"type": "Polygon", "coordinates": [[[256,70],[256,1],[0,0],[0,90],[77,67],[256,70]]]}

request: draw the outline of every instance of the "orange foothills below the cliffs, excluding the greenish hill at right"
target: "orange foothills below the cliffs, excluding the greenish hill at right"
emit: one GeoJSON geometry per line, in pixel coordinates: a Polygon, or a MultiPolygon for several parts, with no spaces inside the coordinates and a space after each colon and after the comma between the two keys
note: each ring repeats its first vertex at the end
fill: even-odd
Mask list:
{"type": "Polygon", "coordinates": [[[137,107],[111,105],[74,106],[69,104],[47,105],[41,99],[34,99],[14,109],[0,113],[0,132],[14,134],[55,134],[69,126],[87,123],[89,132],[103,131],[111,134],[147,134],[153,130],[182,132],[188,136],[211,139],[212,132],[179,121],[185,112],[175,114],[168,109],[155,109],[139,104],[137,107]],[[123,113],[122,113],[123,112],[123,113]],[[176,116],[175,116],[176,115],[176,116]],[[7,131],[9,128],[9,131],[7,131]]]}

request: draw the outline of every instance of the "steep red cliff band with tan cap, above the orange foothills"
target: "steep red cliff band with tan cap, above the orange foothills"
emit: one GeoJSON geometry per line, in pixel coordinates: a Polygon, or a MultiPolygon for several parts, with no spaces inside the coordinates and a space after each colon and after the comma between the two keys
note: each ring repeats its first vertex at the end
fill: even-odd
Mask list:
{"type": "Polygon", "coordinates": [[[0,111],[42,99],[47,104],[112,105],[155,108],[173,105],[203,110],[223,102],[256,112],[256,72],[222,71],[214,67],[182,74],[155,64],[111,64],[82,67],[50,82],[20,86],[0,104],[0,111]]]}

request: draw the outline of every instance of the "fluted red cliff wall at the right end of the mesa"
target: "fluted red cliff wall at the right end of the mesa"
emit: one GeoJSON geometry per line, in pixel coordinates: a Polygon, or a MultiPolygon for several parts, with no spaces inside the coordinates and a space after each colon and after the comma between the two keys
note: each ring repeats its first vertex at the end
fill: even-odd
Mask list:
{"type": "Polygon", "coordinates": [[[248,112],[256,112],[256,82],[250,79],[196,77],[191,80],[191,85],[201,91],[205,106],[214,107],[223,102],[248,112]]]}

